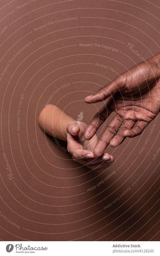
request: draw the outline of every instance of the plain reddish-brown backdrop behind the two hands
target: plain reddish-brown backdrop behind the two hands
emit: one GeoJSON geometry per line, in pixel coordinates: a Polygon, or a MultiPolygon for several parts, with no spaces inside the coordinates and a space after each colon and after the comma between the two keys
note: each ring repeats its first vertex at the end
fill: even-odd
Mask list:
{"type": "MultiPolygon", "coordinates": [[[[27,2],[27,1],[26,1],[27,2]]],[[[159,240],[159,155],[157,117],[141,136],[126,139],[117,148],[108,147],[115,163],[103,172],[90,171],[72,161],[66,144],[44,135],[37,125],[38,114],[50,95],[63,84],[51,103],[77,119],[89,123],[101,103],[87,105],[83,99],[116,77],[110,68],[123,72],[140,58],[127,44],[134,45],[144,58],[159,52],[159,0],[37,0],[17,9],[25,1],[0,1],[1,73],[9,60],[27,43],[32,44],[14,58],[0,76],[2,109],[0,238],[4,241],[159,240]],[[34,28],[67,17],[77,20],[34,28]],[[86,18],[85,18],[86,17],[86,18]],[[118,49],[80,47],[98,43],[118,49]],[[17,131],[20,96],[24,100],[17,131]],[[141,154],[152,125],[151,139],[141,154]],[[2,153],[5,152],[14,179],[2,153]],[[115,171],[104,184],[87,189],[115,171]],[[106,210],[124,190],[131,188],[106,210]],[[3,215],[20,228],[11,225],[3,215]]],[[[109,118],[111,119],[111,117],[109,118]]],[[[109,120],[107,120],[107,123],[109,120]]],[[[103,127],[105,127],[104,124],[103,127]]],[[[101,130],[99,130],[100,133],[101,130]]]]}

